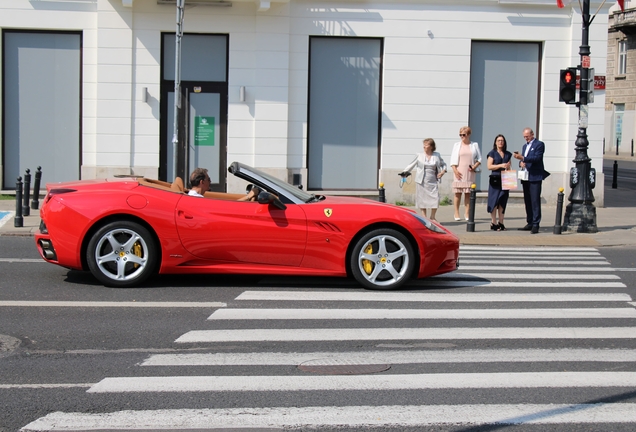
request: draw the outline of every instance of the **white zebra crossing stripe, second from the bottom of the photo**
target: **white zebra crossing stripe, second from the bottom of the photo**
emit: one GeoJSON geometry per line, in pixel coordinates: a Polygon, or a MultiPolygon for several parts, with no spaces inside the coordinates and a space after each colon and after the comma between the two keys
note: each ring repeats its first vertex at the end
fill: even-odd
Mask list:
{"type": "Polygon", "coordinates": [[[88,393],[259,392],[635,387],[636,372],[493,372],[375,375],[104,378],[88,393]]]}

